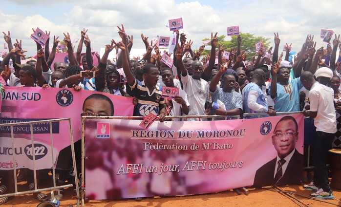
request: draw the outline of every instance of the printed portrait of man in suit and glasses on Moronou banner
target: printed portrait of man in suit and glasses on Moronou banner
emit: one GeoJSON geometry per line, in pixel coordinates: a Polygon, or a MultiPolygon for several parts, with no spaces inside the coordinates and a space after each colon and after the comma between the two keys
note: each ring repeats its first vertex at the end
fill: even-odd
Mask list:
{"type": "Polygon", "coordinates": [[[298,124],[294,117],[283,116],[272,135],[277,156],[257,169],[254,186],[298,184],[302,177],[303,154],[296,149],[298,124]]]}

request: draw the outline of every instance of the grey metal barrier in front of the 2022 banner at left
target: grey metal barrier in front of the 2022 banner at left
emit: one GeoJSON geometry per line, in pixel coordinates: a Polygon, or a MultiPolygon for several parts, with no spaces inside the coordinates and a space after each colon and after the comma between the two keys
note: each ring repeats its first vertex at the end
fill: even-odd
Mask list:
{"type": "MultiPolygon", "coordinates": [[[[80,201],[80,194],[79,194],[79,186],[78,186],[78,177],[77,177],[77,168],[76,168],[76,160],[75,160],[75,149],[73,146],[73,136],[72,136],[72,127],[71,127],[71,118],[61,118],[61,119],[46,119],[41,121],[28,121],[28,122],[20,122],[20,123],[12,123],[12,124],[0,124],[0,127],[10,127],[11,129],[11,138],[12,138],[12,149],[15,149],[14,147],[14,132],[13,127],[14,126],[20,126],[20,125],[30,125],[30,132],[31,132],[31,149],[34,148],[34,138],[33,138],[33,125],[34,124],[42,124],[42,123],[49,123],[49,130],[50,130],[50,141],[51,141],[51,154],[52,154],[52,176],[53,176],[53,187],[49,188],[37,188],[37,174],[36,174],[36,153],[35,150],[33,150],[33,174],[34,174],[34,190],[27,190],[27,191],[21,191],[18,192],[18,182],[17,182],[17,168],[16,165],[13,165],[13,173],[14,173],[14,182],[15,182],[15,192],[14,193],[7,193],[7,194],[1,194],[0,197],[5,196],[16,196],[16,195],[22,195],[27,193],[36,193],[40,191],[50,191],[54,189],[60,189],[60,188],[68,188],[72,187],[72,184],[63,185],[63,186],[56,186],[56,174],[55,174],[55,165],[54,165],[54,157],[53,157],[53,135],[52,135],[52,122],[60,122],[60,121],[68,121],[69,123],[69,131],[70,131],[70,145],[71,145],[71,153],[72,153],[72,162],[73,162],[73,170],[75,174],[75,183],[76,183],[76,193],[77,193],[77,207],[79,206],[80,201]]],[[[15,153],[11,155],[13,157],[13,163],[15,163],[15,153]]]]}

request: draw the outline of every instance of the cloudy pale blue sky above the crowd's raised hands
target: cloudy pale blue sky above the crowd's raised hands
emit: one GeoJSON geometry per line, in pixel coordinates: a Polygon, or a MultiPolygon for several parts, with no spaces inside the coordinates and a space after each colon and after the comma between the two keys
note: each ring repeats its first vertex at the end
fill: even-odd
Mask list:
{"type": "MultiPolygon", "coordinates": [[[[280,49],[292,42],[292,51],[299,51],[307,34],[315,35],[320,47],[321,29],[341,33],[339,7],[339,0],[1,0],[0,22],[2,31],[11,32],[13,43],[22,39],[28,56],[36,53],[31,28],[51,31],[51,37],[59,38],[69,32],[73,40],[85,27],[91,46],[99,51],[110,39],[119,40],[116,26],[123,24],[126,33],[134,36],[133,48],[143,48],[141,33],[149,40],[157,35],[171,36],[164,25],[168,19],[180,17],[184,22],[180,32],[194,41],[194,49],[211,32],[226,35],[226,27],[239,25],[241,32],[271,38],[272,44],[274,32],[278,32],[280,49]]],[[[4,42],[0,38],[0,51],[4,42]]]]}

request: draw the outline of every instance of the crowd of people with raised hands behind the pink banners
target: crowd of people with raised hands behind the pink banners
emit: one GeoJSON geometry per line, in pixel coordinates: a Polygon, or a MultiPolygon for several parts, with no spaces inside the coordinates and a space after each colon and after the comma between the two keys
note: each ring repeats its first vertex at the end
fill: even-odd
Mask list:
{"type": "MultiPolygon", "coordinates": [[[[21,61],[27,51],[22,49],[21,40],[12,44],[10,32],[3,32],[8,52],[0,58],[2,78],[7,86],[74,88],[76,91],[134,97],[134,115],[154,113],[160,122],[168,120],[168,116],[181,115],[243,116],[243,113],[252,113],[255,115],[245,118],[253,118],[259,117],[256,113],[275,116],[278,112],[303,112],[315,121],[319,146],[315,149],[314,182],[304,188],[316,191],[312,197],[333,198],[325,166],[332,145],[341,147],[341,138],[335,137],[335,132],[340,130],[336,118],[341,114],[341,52],[337,59],[340,35],[335,35],[326,49],[316,49],[314,36],[308,35],[297,56],[289,61],[291,47],[287,45],[282,59],[283,53],[278,54],[281,40],[277,33],[274,47],[266,49],[261,45],[256,56],[247,61],[240,36],[236,47],[229,49],[229,57],[223,57],[225,48],[218,45],[217,33],[211,34],[211,52],[207,56],[201,55],[204,45],[198,51],[192,50],[191,40],[187,41],[186,35],[179,31],[172,54],[162,52],[156,43],[149,44],[142,34],[146,53],[141,54],[142,58],[132,58],[129,52],[133,38],[128,36],[123,25],[118,27],[121,39],[112,39],[105,46],[102,57],[91,52],[91,41],[86,32],[85,29],[81,31],[76,56],[69,34],[64,33],[69,63],[54,62],[59,40],[53,37],[50,50],[48,33],[44,48],[37,43],[37,58],[30,58],[25,64],[21,61]],[[82,54],[83,43],[85,54],[82,54]],[[108,55],[114,49],[117,58],[109,60],[108,55]],[[161,60],[164,54],[173,58],[171,67],[161,60]],[[98,58],[98,65],[94,65],[93,55],[98,58]],[[9,67],[10,59],[14,73],[9,67]],[[162,87],[165,86],[179,88],[179,94],[174,99],[164,98],[162,87]]],[[[4,192],[5,188],[0,186],[0,193],[4,192]]],[[[0,198],[0,204],[5,202],[0,198]]]]}

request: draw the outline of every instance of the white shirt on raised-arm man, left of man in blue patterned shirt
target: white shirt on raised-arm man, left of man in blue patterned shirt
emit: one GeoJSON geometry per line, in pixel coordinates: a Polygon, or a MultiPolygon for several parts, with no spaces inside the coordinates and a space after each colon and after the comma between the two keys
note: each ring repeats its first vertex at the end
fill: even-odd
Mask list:
{"type": "MultiPolygon", "coordinates": [[[[188,115],[205,115],[205,103],[211,101],[209,97],[209,84],[204,79],[194,79],[188,73],[186,76],[181,74],[180,77],[191,105],[188,115]]],[[[188,120],[198,121],[199,119],[189,118],[188,120]]],[[[201,120],[206,121],[207,119],[201,120]]]]}

